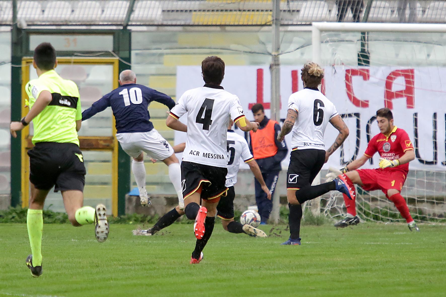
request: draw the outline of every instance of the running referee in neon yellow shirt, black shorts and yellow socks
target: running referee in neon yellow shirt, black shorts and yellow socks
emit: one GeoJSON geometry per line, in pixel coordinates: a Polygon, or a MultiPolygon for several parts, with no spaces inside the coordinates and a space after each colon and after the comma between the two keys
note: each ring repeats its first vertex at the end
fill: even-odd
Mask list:
{"type": "Polygon", "coordinates": [[[95,223],[99,242],[107,239],[109,228],[103,204],[96,208],[83,206],[86,170],[78,139],[82,122],[78,87],[54,70],[56,50],[50,43],[41,43],[34,49],[33,66],[38,78],[25,86],[30,110],[20,122],[11,123],[10,131],[17,137],[17,131],[34,123],[34,148],[28,152],[31,197],[26,219],[32,254],[26,258],[26,265],[31,275],[38,277],[42,275],[42,209],[53,186],[55,192],[61,191],[73,226],[95,223]]]}

